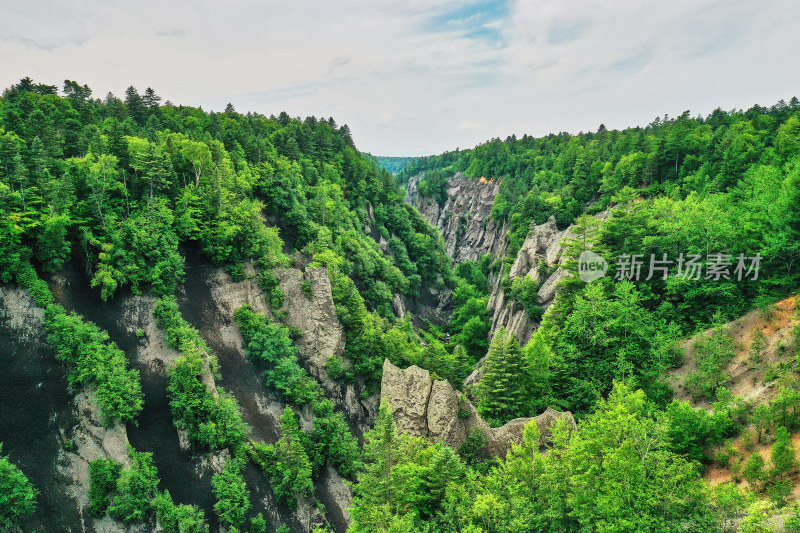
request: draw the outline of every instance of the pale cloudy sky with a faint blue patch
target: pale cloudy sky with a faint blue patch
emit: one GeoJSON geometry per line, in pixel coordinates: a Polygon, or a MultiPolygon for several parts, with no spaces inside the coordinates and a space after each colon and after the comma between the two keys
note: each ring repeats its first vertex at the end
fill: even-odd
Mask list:
{"type": "Polygon", "coordinates": [[[415,156],[800,97],[796,0],[0,0],[0,86],[334,117],[415,156]]]}

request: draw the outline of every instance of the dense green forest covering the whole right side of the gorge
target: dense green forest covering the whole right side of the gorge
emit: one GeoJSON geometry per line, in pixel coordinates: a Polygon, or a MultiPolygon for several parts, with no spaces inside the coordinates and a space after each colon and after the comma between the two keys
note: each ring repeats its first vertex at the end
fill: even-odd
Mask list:
{"type": "MultiPolygon", "coordinates": [[[[784,475],[797,467],[787,428],[794,431],[798,419],[781,414],[788,412],[782,405],[796,405],[798,367],[781,366],[779,396],[754,409],[724,386],[734,346],[720,327],[797,292],[797,99],[708,117],[684,113],[645,128],[495,139],[420,158],[397,178],[406,184],[416,177],[420,194],[442,204],[456,172],[501,180],[492,217],[508,228],[509,250],[505,258],[459,265],[451,325],[463,327],[461,315],[479,323],[492,273],[512,301],[541,320],[526,346],[502,330],[495,335],[479,412],[499,425],[556,406],[578,415],[578,431],[556,431],[541,454],[531,424],[522,445],[487,464],[474,456],[480,442],[451,457],[440,445],[397,435],[382,412],[364,448],[353,529],[773,531],[769,517],[779,514],[788,517],[785,531],[800,530],[784,475]],[[731,275],[686,279],[677,265],[652,280],[608,276],[584,284],[575,275],[542,317],[538,286],[508,279],[508,268],[531,224],[550,216],[562,229],[574,224],[565,252],[574,274],[578,255],[591,249],[612,266],[622,254],[643,254],[644,274],[650,254],[698,254],[708,269],[708,254],[719,253],[732,258],[731,275]],[[740,254],[760,256],[757,279],[734,275],[740,254]],[[706,328],[712,333],[697,345],[687,386],[712,403],[708,411],[672,400],[664,379],[681,364],[676,341],[706,328]],[[751,453],[743,473],[751,489],[710,489],[701,473],[713,449],[727,443],[733,450],[732,439],[748,442],[750,431],[759,442],[762,431],[771,432],[771,464],[751,453]]],[[[793,335],[789,349],[796,352],[800,330],[793,335]]]]}

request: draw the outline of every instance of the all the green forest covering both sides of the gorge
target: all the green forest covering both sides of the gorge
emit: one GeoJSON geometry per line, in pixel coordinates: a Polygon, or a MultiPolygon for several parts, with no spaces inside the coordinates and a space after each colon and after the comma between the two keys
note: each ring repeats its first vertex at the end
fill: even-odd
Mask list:
{"type": "MultiPolygon", "coordinates": [[[[289,508],[313,498],[332,466],[353,488],[352,532],[761,532],[775,517],[783,531],[800,531],[791,440],[800,428],[800,328],[785,347],[798,355],[780,369],[781,395],[758,408],[725,387],[733,348],[720,333],[797,292],[797,99],[387,163],[359,152],[332,118],[242,114],[230,104],[206,112],[162,102],[150,88],[100,99],[75,81],[59,89],[25,78],[0,98],[0,199],[0,282],[30,292],[70,390],[94,391],[108,425],[142,411],[139,372],[107,332],[56,303],[48,281],[78,261],[103,300],[124,291],[158,298],[158,328],[180,354],[166,391],[174,426],[200,449],[228,452],[212,481],[227,531],[267,530],[251,512],[247,465],[289,508]],[[443,203],[456,172],[500,181],[492,218],[507,231],[506,257],[452,265],[441,235],[405,202],[403,186],[419,178],[420,194],[443,203]],[[573,274],[591,250],[612,265],[623,254],[700,254],[706,268],[710,254],[758,255],[758,278],[584,284],[573,275],[544,310],[539,287],[509,269],[531,225],[551,216],[572,227],[564,268],[573,274]],[[490,425],[554,407],[570,410],[578,428],[557,426],[543,447],[529,423],[498,458],[480,435],[454,450],[399,433],[382,405],[359,442],[298,359],[285,317],[245,305],[234,318],[247,357],[286,406],[279,438],[253,440],[236,398],[204,384],[219,364],[176,303],[189,250],[234,280],[252,265],[273,310],[284,298],[275,269],[324,267],[345,337],[329,373],[363,383],[365,398],[380,393],[385,359],[463,391],[485,356],[477,408],[490,425]],[[503,329],[490,335],[490,279],[539,326],[530,342],[503,329]],[[441,292],[452,293],[447,323],[398,316],[396,300],[441,292]],[[707,409],[673,398],[665,379],[681,365],[679,341],[703,331],[687,383],[707,409]],[[301,412],[312,413],[310,427],[301,412]],[[752,427],[772,445],[769,461],[751,453],[747,485],[712,487],[704,469],[752,427]]],[[[202,509],[163,489],[149,452],[131,447],[128,456],[126,466],[91,462],[91,515],[209,530],[202,509]]],[[[7,457],[0,488],[0,526],[24,528],[41,488],[7,457]]]]}

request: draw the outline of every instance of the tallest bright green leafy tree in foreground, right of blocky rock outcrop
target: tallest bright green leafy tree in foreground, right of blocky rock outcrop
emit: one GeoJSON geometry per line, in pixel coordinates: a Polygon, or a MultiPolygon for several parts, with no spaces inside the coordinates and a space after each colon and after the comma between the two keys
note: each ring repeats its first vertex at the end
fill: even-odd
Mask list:
{"type": "Polygon", "coordinates": [[[642,391],[617,386],[570,440],[566,462],[575,492],[568,502],[581,524],[677,531],[708,512],[697,469],[669,451],[666,428],[647,410],[642,391]],[[637,451],[645,441],[649,451],[637,451]]]}

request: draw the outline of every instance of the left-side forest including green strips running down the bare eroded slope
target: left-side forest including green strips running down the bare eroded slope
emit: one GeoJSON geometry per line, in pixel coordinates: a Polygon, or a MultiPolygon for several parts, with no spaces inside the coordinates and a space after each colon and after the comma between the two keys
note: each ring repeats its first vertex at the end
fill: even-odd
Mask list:
{"type": "MultiPolygon", "coordinates": [[[[395,317],[394,295],[413,298],[455,279],[438,233],[333,119],[242,115],[232,106],[207,113],[133,87],[124,99],[96,99],[73,81],[60,95],[26,78],[0,99],[0,198],[0,277],[29,289],[45,310],[48,341],[70,385],[95,391],[108,424],[136,420],[139,374],[105,331],[54,303],[44,279],[75,260],[103,300],[122,288],[161,297],[157,323],[181,353],[167,390],[175,426],[198,446],[234,457],[214,480],[215,512],[230,527],[242,527],[249,508],[249,496],[236,489],[246,461],[291,506],[311,495],[326,462],[352,477],[360,452],[342,415],[298,364],[286,327],[243,308],[237,320],[246,348],[264,369],[267,390],[289,406],[277,443],[247,440],[236,399],[204,385],[218,365],[172,297],[187,247],[234,279],[252,261],[275,309],[282,294],[271,269],[290,265],[296,252],[327,267],[348,340],[347,364],[331,364],[338,379],[364,379],[373,393],[384,358],[422,363],[426,353],[410,322],[395,317]],[[376,242],[381,235],[392,253],[376,242]],[[312,408],[310,432],[299,430],[292,406],[312,408]]],[[[129,470],[93,463],[92,514],[129,522],[156,513],[171,531],[202,530],[202,512],[158,491],[152,459],[133,449],[130,457],[129,470]]],[[[31,514],[35,490],[2,461],[2,519],[11,524],[31,514]]],[[[254,518],[250,530],[259,524],[254,518]]]]}

